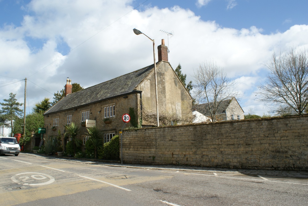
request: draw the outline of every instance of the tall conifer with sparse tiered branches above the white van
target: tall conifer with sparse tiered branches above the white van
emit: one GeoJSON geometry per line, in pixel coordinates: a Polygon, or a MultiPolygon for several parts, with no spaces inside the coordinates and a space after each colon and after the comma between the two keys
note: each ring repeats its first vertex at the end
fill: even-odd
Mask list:
{"type": "Polygon", "coordinates": [[[16,94],[10,93],[9,99],[3,99],[4,103],[0,103],[2,109],[0,110],[1,119],[9,121],[9,123],[4,123],[3,125],[6,128],[11,128],[11,137],[13,136],[13,126],[14,120],[18,120],[22,116],[22,109],[19,109],[19,106],[22,106],[22,103],[17,102],[15,99],[16,94]]]}

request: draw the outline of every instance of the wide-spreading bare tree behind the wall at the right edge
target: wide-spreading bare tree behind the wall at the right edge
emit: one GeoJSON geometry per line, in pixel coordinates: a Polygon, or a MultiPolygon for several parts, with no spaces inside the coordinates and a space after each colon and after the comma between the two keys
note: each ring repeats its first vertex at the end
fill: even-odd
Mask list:
{"type": "Polygon", "coordinates": [[[272,55],[270,70],[260,85],[258,100],[274,107],[275,113],[303,114],[308,104],[308,52],[290,48],[289,53],[272,55]],[[282,111],[284,110],[284,111],[282,111]],[[293,111],[293,112],[292,112],[293,111]]]}

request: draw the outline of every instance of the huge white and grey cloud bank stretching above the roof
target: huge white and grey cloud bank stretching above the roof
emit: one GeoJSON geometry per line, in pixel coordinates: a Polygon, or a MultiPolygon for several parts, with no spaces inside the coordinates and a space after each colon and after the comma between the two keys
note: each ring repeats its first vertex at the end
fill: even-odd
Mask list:
{"type": "MultiPolygon", "coordinates": [[[[243,107],[257,104],[249,99],[249,91],[254,90],[252,82],[257,82],[258,72],[270,59],[273,49],[308,48],[307,25],[294,25],[284,33],[263,35],[253,26],[237,30],[221,27],[214,21],[203,21],[192,11],[178,6],[147,7],[128,13],[133,9],[132,0],[69,2],[32,1],[27,7],[29,15],[24,16],[20,27],[0,28],[1,75],[27,77],[52,93],[29,82],[30,103],[27,104],[30,109],[44,97],[52,99],[53,93],[63,89],[67,77],[88,87],[152,64],[151,41],[143,35],[136,36],[133,28],[155,39],[156,48],[161,39],[167,44],[167,35],[160,30],[174,31],[175,35],[169,39],[169,61],[174,69],[181,63],[187,81],[192,80],[193,69],[199,63],[217,61],[230,77],[241,82],[238,88],[245,92],[243,107]],[[124,14],[127,15],[122,17],[124,14]],[[75,49],[63,56],[57,49],[59,39],[75,49]],[[43,42],[36,50],[33,49],[35,40],[43,42]]],[[[10,79],[0,79],[1,82],[6,80],[10,79]]],[[[11,91],[23,102],[23,83],[16,83],[12,89],[1,87],[0,98],[7,98],[6,94],[11,91]]]]}

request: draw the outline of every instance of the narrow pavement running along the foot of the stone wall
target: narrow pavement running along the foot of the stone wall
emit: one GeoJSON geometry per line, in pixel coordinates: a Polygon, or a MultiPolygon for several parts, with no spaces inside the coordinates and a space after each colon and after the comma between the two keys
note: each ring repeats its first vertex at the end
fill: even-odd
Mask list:
{"type": "Polygon", "coordinates": [[[249,176],[261,175],[263,177],[281,177],[281,178],[300,178],[308,179],[308,172],[294,171],[294,170],[244,170],[244,169],[227,169],[227,168],[213,168],[203,166],[187,166],[187,165],[144,165],[144,164],[121,164],[120,161],[108,161],[86,158],[69,158],[64,156],[48,156],[44,154],[20,153],[29,156],[42,156],[51,159],[62,161],[72,161],[84,164],[99,164],[111,167],[126,167],[139,168],[150,170],[172,170],[172,171],[186,171],[186,172],[204,172],[204,173],[224,173],[224,174],[245,174],[249,176]]]}

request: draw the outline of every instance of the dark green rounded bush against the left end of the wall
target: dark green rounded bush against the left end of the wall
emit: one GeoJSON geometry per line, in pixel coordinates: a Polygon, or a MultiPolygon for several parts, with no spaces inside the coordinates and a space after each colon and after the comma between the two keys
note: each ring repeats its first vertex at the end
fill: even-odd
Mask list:
{"type": "Polygon", "coordinates": [[[99,153],[99,158],[120,160],[119,135],[114,136],[110,142],[104,144],[103,152],[99,153]]]}

